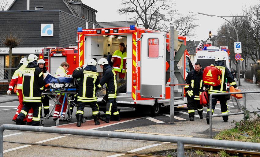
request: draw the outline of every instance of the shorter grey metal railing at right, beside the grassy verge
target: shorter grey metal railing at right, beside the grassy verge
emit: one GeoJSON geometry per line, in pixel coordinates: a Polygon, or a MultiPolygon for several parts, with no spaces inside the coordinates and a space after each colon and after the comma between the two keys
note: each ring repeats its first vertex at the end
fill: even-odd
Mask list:
{"type": "MultiPolygon", "coordinates": [[[[238,114],[244,114],[244,120],[245,120],[245,111],[246,111],[246,94],[249,93],[260,93],[260,91],[250,91],[250,92],[231,92],[231,93],[212,93],[210,94],[210,138],[212,138],[212,118],[213,117],[223,117],[223,116],[231,116],[231,115],[238,115],[238,114]],[[213,95],[229,95],[229,94],[244,94],[244,104],[243,104],[243,112],[237,112],[237,113],[230,113],[230,114],[218,114],[218,115],[212,115],[212,96],[213,95]]],[[[257,111],[249,111],[249,113],[254,112],[260,112],[260,110],[257,111]]]]}

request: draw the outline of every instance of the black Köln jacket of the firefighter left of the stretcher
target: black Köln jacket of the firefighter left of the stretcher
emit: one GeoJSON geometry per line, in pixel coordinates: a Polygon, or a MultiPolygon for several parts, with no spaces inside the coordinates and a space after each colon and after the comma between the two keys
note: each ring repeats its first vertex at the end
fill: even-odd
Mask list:
{"type": "Polygon", "coordinates": [[[41,102],[43,90],[43,73],[37,62],[29,63],[23,72],[23,101],[41,102]]]}

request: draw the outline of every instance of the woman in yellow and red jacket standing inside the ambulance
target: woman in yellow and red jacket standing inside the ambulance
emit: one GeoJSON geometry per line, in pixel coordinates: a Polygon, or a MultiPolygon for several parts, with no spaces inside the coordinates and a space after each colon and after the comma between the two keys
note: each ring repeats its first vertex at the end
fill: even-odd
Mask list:
{"type": "Polygon", "coordinates": [[[119,50],[116,50],[111,58],[113,62],[113,70],[116,73],[119,73],[119,79],[124,79],[126,73],[126,47],[124,43],[119,44],[119,50]]]}

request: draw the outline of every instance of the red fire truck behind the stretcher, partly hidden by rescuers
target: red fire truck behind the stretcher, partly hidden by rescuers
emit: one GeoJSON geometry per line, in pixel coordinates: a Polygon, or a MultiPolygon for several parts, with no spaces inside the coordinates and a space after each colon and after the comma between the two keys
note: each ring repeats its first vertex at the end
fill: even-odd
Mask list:
{"type": "Polygon", "coordinates": [[[67,74],[72,74],[73,70],[79,67],[78,47],[43,47],[39,58],[44,59],[46,69],[53,76],[62,62],[69,63],[67,74]]]}

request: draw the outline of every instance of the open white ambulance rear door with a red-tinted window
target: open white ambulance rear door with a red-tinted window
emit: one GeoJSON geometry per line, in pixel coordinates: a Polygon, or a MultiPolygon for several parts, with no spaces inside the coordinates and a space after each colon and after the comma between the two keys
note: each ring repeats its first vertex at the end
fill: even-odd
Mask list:
{"type": "Polygon", "coordinates": [[[141,97],[165,99],[166,32],[143,33],[142,35],[141,97]]]}

